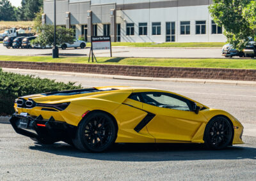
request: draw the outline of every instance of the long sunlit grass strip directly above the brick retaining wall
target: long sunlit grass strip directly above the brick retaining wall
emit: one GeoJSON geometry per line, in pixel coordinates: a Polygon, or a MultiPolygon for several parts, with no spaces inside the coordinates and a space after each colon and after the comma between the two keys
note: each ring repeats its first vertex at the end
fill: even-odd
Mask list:
{"type": "MultiPolygon", "coordinates": [[[[30,61],[30,62],[65,62],[88,64],[88,57],[29,57],[0,56],[0,61],[30,61]]],[[[156,59],[156,58],[122,58],[97,57],[99,64],[119,64],[136,66],[173,66],[194,68],[237,68],[256,69],[255,59],[156,59]]],[[[92,62],[90,62],[92,64],[92,62]]]]}

